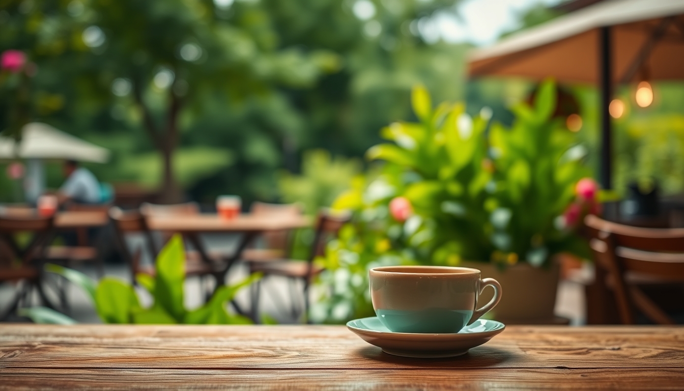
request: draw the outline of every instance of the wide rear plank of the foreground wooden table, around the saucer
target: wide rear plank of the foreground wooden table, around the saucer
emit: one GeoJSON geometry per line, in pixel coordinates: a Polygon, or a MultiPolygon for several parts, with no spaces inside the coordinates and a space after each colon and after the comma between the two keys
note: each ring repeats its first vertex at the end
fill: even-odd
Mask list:
{"type": "Polygon", "coordinates": [[[462,357],[421,360],[341,326],[0,325],[0,368],[684,368],[684,328],[510,326],[462,357]]]}

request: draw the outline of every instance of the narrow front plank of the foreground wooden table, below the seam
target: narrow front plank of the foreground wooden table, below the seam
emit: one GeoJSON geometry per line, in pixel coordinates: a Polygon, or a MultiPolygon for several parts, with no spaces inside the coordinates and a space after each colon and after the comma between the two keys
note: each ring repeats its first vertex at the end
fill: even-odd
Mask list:
{"type": "Polygon", "coordinates": [[[0,390],[681,390],[684,369],[5,369],[0,390]]]}

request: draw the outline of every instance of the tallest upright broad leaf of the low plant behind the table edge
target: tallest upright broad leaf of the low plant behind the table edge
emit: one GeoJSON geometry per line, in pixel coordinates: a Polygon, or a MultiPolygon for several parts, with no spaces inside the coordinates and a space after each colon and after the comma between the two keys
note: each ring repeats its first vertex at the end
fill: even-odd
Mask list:
{"type": "Polygon", "coordinates": [[[185,281],[185,250],[179,234],[174,235],[157,257],[155,305],[163,308],[174,319],[185,316],[183,282],[185,281]]]}

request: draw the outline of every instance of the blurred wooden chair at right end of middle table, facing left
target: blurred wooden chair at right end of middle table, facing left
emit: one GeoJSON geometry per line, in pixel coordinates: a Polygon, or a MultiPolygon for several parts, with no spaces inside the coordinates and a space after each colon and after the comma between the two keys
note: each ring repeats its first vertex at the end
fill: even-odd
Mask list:
{"type": "MultiPolygon", "coordinates": [[[[269,276],[280,276],[290,279],[290,281],[302,281],[304,287],[304,314],[308,316],[309,308],[309,287],[313,277],[323,270],[314,264],[314,260],[319,255],[324,255],[328,240],[337,236],[339,229],[348,223],[352,215],[348,212],[332,214],[331,212],[319,212],[316,220],[314,239],[311,245],[311,253],[306,261],[302,260],[274,260],[269,262],[249,262],[250,274],[263,273],[264,278],[269,276]]],[[[262,279],[263,281],[263,279],[262,279]]],[[[252,318],[259,320],[259,291],[261,281],[252,285],[252,318]]],[[[296,317],[296,305],[294,297],[291,297],[291,309],[296,317]]]]}

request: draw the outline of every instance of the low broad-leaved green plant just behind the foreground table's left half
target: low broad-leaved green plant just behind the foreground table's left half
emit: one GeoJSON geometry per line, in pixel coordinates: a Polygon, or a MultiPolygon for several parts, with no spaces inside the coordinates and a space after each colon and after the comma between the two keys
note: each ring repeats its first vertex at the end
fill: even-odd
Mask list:
{"type": "MultiPolygon", "coordinates": [[[[196,310],[188,311],[183,305],[183,283],[185,281],[185,251],[179,235],[173,236],[161,250],[156,262],[157,274],[137,275],[136,279],[150,294],[154,303],[142,307],[135,289],[119,279],[105,277],[96,283],[90,277],[76,270],[53,264],[46,270],[68,279],[83,288],[95,305],[98,315],[105,323],[137,324],[247,324],[250,319],[228,313],[226,303],[235,297],[241,288],[261,278],[255,274],[233,286],[222,286],[216,290],[208,303],[196,310]]],[[[36,308],[29,309],[30,316],[38,323],[64,323],[64,316],[36,308]]]]}

